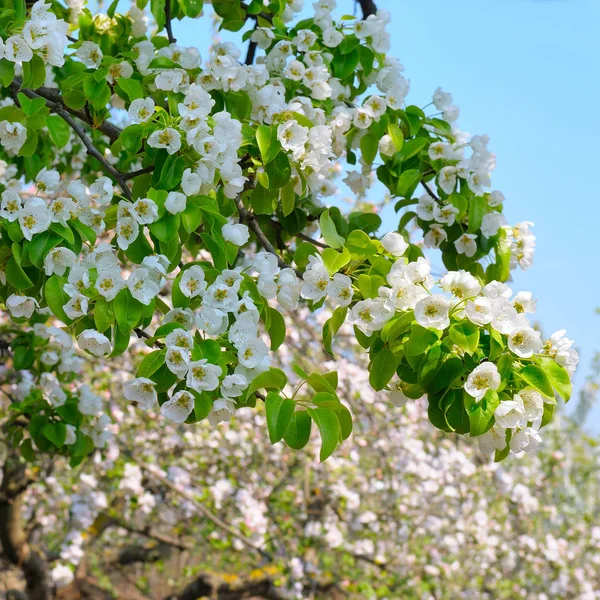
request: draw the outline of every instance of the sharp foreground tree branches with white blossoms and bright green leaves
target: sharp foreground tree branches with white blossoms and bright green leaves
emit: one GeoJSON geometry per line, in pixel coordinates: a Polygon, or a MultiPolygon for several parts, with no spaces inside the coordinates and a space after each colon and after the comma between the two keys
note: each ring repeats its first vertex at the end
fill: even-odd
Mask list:
{"type": "MultiPolygon", "coordinates": [[[[541,442],[578,359],[564,332],[542,339],[536,301],[506,285],[531,264],[531,223],[506,223],[488,139],[457,128],[448,93],[435,108],[407,101],[385,11],[362,0],[362,18],[334,20],[321,0],[300,20],[298,0],[213,0],[222,29],[251,25],[248,48],[216,43],[203,60],[173,33],[202,0],[127,14],[115,1],[96,16],[72,0],[3,3],[1,333],[20,390],[5,504],[24,461],[77,467],[108,448],[100,365],[131,371],[111,400],[140,420],[160,407],[160,426],[194,436],[264,403],[271,443],[300,450],[314,428],[321,460],[342,451],[360,400],[335,359],[275,362],[316,325],[300,307],[326,315],[330,357],[350,328],[393,405],[425,398],[436,428],[496,461],[541,442]],[[332,203],[340,170],[359,200],[375,180],[387,188],[396,230],[363,201],[332,203]]],[[[36,556],[32,577],[45,572],[36,556]]]]}

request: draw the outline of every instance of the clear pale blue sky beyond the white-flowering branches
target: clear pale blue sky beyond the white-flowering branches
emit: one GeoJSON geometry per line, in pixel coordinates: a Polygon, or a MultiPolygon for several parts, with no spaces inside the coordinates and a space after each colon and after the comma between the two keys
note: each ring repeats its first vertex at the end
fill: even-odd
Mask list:
{"type": "MultiPolygon", "coordinates": [[[[461,108],[459,126],[490,136],[507,218],[533,221],[537,236],[534,266],[513,287],[539,299],[544,332],[565,328],[576,340],[578,389],[600,350],[600,0],[376,1],[393,17],[392,54],[411,80],[409,101],[423,106],[442,86],[461,108]]],[[[338,0],[337,13],[353,4],[338,0]]],[[[305,5],[308,14],[311,0],[305,5]]],[[[175,22],[174,33],[206,55],[206,19],[175,22]]],[[[393,211],[386,215],[394,228],[393,211]]],[[[588,426],[600,431],[600,406],[588,426]]]]}

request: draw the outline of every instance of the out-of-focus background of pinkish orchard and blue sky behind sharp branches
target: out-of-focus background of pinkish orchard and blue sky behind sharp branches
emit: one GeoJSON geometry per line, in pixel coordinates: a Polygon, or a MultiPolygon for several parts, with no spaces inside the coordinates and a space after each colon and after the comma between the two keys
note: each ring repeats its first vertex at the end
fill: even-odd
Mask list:
{"type": "MultiPolygon", "coordinates": [[[[297,453],[271,446],[260,411],[217,428],[141,413],[122,398],[135,370],[129,354],[119,369],[89,361],[114,436],[77,469],[42,463],[22,498],[31,539],[75,573],[58,597],[600,598],[600,286],[591,263],[600,204],[586,167],[600,160],[590,135],[600,123],[588,109],[598,97],[600,6],[378,5],[392,14],[391,53],[406,66],[411,101],[451,91],[461,127],[491,137],[507,218],[535,222],[534,266],[514,287],[544,298],[537,316],[547,335],[560,323],[577,342],[569,407],[537,453],[494,464],[469,440],[434,430],[422,403],[395,408],[374,392],[343,330],[335,361],[324,355],[311,337],[321,316],[298,313],[298,323],[317,323],[294,330],[280,365],[336,369],[355,414],[350,442],[320,464],[317,439],[297,453]]],[[[178,42],[205,56],[232,39],[207,21],[176,22],[178,42]]],[[[335,202],[349,209],[350,196],[342,185],[335,202]]],[[[368,201],[393,229],[384,190],[368,201]]],[[[4,391],[18,394],[8,383],[4,391]]],[[[21,597],[19,570],[0,570],[0,594],[21,597]]]]}

